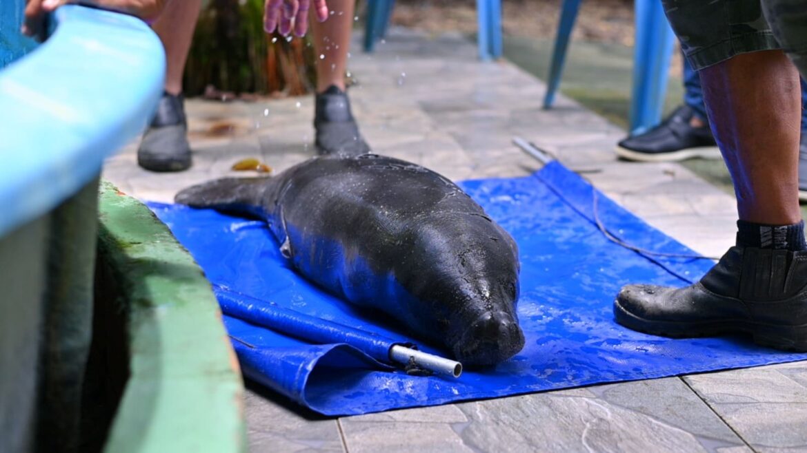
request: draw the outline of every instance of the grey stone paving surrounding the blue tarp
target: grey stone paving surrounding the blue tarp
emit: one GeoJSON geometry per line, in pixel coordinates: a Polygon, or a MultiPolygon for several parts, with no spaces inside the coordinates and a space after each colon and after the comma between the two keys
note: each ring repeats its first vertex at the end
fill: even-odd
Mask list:
{"type": "MultiPolygon", "coordinates": [[[[720,256],[734,242],[732,197],[678,164],[618,161],[612,150],[624,131],[567,98],[541,110],[541,81],[507,61],[479,62],[462,36],[394,29],[374,54],[353,53],[353,111],[375,152],[454,180],[517,177],[540,168],[512,145],[520,135],[696,251],[720,256]]],[[[229,168],[246,157],[282,171],[315,154],[312,101],[190,100],[193,168],[145,172],[132,144],[107,162],[104,177],[135,197],[169,202],[187,185],[245,176],[229,168]]],[[[250,388],[245,408],[256,452],[807,451],[807,364],[338,419],[250,388]]]]}

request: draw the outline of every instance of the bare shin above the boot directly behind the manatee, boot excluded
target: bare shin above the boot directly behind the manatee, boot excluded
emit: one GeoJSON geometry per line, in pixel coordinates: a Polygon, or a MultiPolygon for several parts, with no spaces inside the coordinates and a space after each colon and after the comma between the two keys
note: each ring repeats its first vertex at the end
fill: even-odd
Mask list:
{"type": "Polygon", "coordinates": [[[316,51],[316,92],[331,85],[345,90],[345,69],[348,63],[350,32],[353,30],[355,0],[331,0],[333,14],[323,23],[312,17],[314,49],[316,51]],[[324,56],[324,58],[320,58],[324,56]]]}

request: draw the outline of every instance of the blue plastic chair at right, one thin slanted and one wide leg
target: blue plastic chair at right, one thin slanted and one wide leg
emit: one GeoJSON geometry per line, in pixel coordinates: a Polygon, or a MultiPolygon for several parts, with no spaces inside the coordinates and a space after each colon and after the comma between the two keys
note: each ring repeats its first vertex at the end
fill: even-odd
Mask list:
{"type": "MultiPolygon", "coordinates": [[[[550,76],[544,97],[548,109],[558,92],[571,30],[575,25],[580,0],[564,0],[558,35],[555,38],[550,76]]],[[[630,100],[630,133],[641,134],[661,121],[667,94],[667,73],[675,35],[659,0],[636,0],[636,34],[633,48],[633,91],[630,100]]]]}

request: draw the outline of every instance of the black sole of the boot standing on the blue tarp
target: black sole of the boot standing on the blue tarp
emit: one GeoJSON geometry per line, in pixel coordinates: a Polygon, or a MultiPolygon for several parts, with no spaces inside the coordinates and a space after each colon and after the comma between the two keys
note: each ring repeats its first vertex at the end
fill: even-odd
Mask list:
{"type": "Polygon", "coordinates": [[[725,320],[712,322],[671,322],[652,321],[641,318],[622,308],[619,301],[613,303],[614,319],[617,323],[650,335],[670,338],[714,337],[725,334],[745,333],[751,335],[754,343],[781,351],[807,352],[807,324],[782,326],[747,320],[725,320]]]}

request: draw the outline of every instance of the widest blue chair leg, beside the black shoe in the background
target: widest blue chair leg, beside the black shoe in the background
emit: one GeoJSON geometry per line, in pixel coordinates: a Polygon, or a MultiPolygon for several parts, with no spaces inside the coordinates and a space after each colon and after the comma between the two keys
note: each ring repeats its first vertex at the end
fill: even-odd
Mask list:
{"type": "Polygon", "coordinates": [[[641,134],[661,121],[675,35],[659,0],[637,0],[633,50],[630,133],[641,134]]]}

